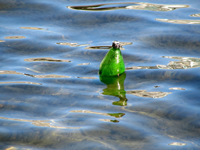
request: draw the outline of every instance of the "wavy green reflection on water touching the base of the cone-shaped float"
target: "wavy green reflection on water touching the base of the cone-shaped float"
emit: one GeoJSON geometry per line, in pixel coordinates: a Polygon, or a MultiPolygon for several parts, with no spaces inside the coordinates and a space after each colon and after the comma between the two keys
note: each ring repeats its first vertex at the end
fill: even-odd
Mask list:
{"type": "Polygon", "coordinates": [[[119,105],[119,106],[127,105],[126,91],[124,90],[125,79],[126,79],[126,73],[121,74],[119,77],[100,76],[100,81],[107,85],[107,88],[103,89],[102,94],[119,97],[119,101],[113,102],[113,105],[119,105]]]}

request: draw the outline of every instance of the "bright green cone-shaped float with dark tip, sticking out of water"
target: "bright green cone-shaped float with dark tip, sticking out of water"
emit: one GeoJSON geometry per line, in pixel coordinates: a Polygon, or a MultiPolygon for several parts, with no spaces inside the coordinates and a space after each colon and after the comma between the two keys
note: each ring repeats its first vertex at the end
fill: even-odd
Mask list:
{"type": "Polygon", "coordinates": [[[119,76],[124,72],[125,65],[122,53],[120,51],[120,43],[118,41],[114,41],[112,43],[112,48],[109,50],[100,64],[99,75],[119,76]]]}

